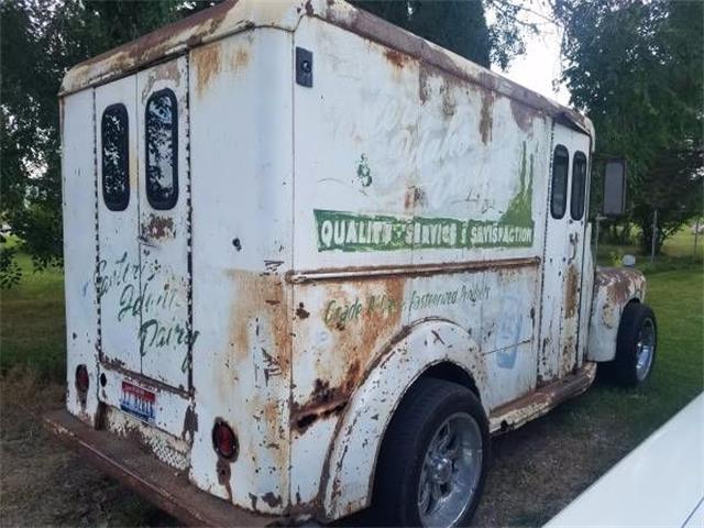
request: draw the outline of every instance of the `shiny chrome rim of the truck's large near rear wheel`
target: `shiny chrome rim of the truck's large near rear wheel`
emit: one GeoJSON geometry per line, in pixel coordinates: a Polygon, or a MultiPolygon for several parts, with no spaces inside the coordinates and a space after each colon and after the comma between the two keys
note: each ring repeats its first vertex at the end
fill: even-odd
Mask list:
{"type": "Polygon", "coordinates": [[[450,416],[426,451],[418,483],[422,526],[454,526],[468,512],[482,475],[482,432],[466,413],[450,416]]]}

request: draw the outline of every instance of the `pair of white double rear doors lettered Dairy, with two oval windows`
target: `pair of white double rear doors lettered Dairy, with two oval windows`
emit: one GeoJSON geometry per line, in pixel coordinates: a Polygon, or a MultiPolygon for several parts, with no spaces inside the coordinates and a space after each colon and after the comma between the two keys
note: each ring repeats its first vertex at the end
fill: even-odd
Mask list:
{"type": "Polygon", "coordinates": [[[180,57],[95,92],[101,361],[184,393],[195,339],[187,69],[180,57]]]}

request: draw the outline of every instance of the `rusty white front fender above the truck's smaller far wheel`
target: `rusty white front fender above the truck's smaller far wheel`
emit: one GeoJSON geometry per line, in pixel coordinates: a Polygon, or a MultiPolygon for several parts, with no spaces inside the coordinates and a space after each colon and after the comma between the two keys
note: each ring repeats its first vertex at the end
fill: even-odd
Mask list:
{"type": "Polygon", "coordinates": [[[586,348],[588,361],[605,362],[616,356],[616,338],[624,308],[646,298],[646,277],[638,270],[597,267],[586,348]]]}

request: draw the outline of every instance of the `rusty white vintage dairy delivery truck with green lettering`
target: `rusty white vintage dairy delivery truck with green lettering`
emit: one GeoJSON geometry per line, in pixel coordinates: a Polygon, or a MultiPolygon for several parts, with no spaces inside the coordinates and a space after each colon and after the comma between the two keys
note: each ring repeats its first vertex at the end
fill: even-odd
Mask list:
{"type": "Polygon", "coordinates": [[[222,3],[61,110],[47,422],[187,522],[462,525],[491,436],[651,370],[642,275],[590,250],[588,120],[344,2],[222,3]]]}

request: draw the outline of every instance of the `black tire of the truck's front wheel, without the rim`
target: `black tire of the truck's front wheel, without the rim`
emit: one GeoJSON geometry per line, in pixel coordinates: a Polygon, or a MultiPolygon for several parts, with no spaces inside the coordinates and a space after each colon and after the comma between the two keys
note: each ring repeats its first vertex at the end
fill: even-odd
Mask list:
{"type": "Polygon", "coordinates": [[[624,308],[616,338],[616,358],[610,365],[614,381],[627,387],[635,387],[645,382],[656,362],[658,349],[658,326],[656,315],[648,305],[630,302],[624,308]],[[647,369],[638,369],[639,340],[648,326],[652,326],[652,352],[647,369]]]}

